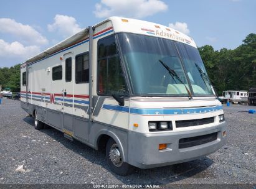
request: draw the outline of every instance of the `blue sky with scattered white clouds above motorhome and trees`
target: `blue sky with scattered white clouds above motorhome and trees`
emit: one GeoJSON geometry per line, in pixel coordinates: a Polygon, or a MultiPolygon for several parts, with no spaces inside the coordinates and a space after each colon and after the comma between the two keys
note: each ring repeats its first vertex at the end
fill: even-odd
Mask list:
{"type": "Polygon", "coordinates": [[[170,25],[198,47],[234,49],[256,33],[255,0],[1,0],[0,67],[24,62],[108,16],[170,25]]]}

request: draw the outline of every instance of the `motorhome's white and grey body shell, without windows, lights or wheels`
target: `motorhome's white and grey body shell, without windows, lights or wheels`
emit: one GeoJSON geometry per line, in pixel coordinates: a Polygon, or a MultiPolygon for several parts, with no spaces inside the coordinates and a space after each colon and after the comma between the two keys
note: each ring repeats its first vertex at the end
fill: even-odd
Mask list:
{"type": "MultiPolygon", "coordinates": [[[[120,17],[110,17],[92,28],[93,37],[89,36],[88,29],[84,29],[21,65],[21,107],[27,113],[32,116],[36,113],[39,121],[94,149],[111,137],[118,144],[123,162],[140,168],[197,159],[215,152],[225,144],[226,122],[219,119],[223,110],[214,92],[212,95],[193,95],[188,98],[182,84],[169,84],[168,91],[177,88],[177,91],[183,90],[183,95],[143,96],[130,92],[130,95],[124,96],[124,106],[111,95],[98,94],[99,40],[125,33],[197,48],[191,37],[164,25],[120,17]],[[90,37],[93,40],[90,41],[90,37]],[[92,52],[89,52],[90,42],[92,52]],[[89,70],[92,77],[88,82],[76,83],[76,57],[86,52],[92,62],[89,65],[92,67],[89,70]],[[72,80],[69,82],[65,80],[67,58],[72,60],[72,80]],[[52,80],[53,68],[60,65],[62,78],[52,80]],[[169,129],[150,131],[149,122],[154,121],[157,121],[156,124],[168,122],[169,129]],[[166,144],[166,147],[159,149],[159,144],[166,144]]],[[[120,49],[122,46],[119,44],[119,53],[120,49]]],[[[124,58],[120,58],[122,61],[125,61],[124,58]]],[[[123,63],[121,68],[125,70],[123,63]]],[[[82,69],[86,70],[85,67],[82,69]]],[[[126,78],[126,72],[124,75],[126,78]]],[[[191,76],[187,75],[191,80],[191,76]]],[[[128,80],[125,82],[128,83],[128,80]]],[[[190,90],[191,86],[196,88],[190,85],[190,90]]],[[[197,87],[197,90],[201,88],[197,87]]],[[[169,93],[173,92],[166,92],[169,93]]]]}

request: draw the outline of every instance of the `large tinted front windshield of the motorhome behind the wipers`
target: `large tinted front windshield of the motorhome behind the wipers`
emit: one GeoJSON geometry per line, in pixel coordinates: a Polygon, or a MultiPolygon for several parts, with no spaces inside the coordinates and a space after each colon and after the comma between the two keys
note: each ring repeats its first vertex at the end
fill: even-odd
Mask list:
{"type": "Polygon", "coordinates": [[[121,33],[117,36],[133,94],[187,96],[187,87],[194,96],[214,95],[196,48],[146,35],[121,33]],[[172,69],[182,82],[170,75],[159,61],[172,69]]]}

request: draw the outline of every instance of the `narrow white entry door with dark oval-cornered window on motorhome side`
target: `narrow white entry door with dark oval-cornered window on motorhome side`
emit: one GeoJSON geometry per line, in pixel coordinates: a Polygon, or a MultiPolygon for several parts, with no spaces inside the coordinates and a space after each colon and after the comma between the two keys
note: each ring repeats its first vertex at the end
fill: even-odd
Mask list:
{"type": "Polygon", "coordinates": [[[65,57],[64,59],[64,129],[73,131],[73,85],[74,85],[74,61],[73,57],[65,57]]]}

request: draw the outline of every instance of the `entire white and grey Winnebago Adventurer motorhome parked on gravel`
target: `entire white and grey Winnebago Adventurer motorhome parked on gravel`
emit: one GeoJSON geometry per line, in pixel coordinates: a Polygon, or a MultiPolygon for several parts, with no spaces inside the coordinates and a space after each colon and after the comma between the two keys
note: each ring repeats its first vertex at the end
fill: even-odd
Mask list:
{"type": "Polygon", "coordinates": [[[191,37],[110,17],[21,65],[21,107],[93,149],[113,172],[198,159],[225,144],[226,122],[191,37]]]}

